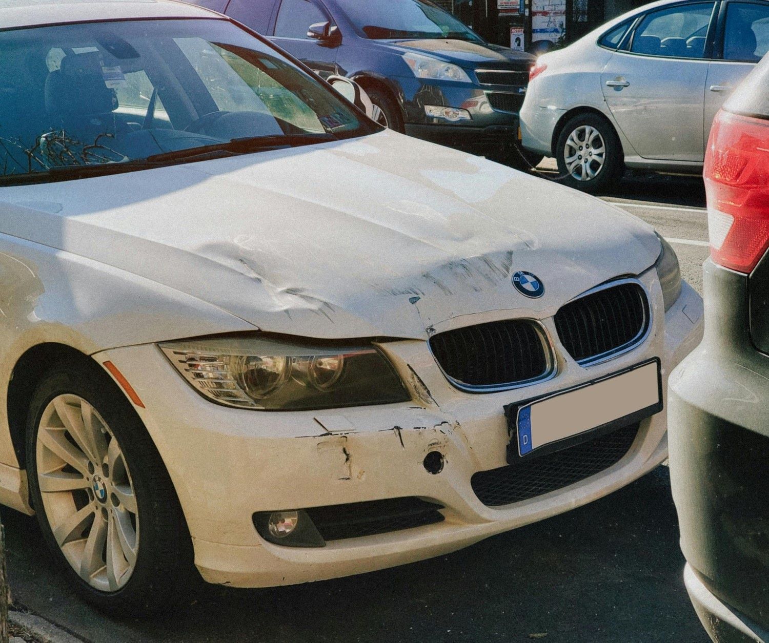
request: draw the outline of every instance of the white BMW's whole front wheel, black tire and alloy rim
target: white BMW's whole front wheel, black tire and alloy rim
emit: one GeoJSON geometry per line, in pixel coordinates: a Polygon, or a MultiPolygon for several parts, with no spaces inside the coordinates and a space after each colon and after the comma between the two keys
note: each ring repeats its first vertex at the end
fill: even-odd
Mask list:
{"type": "Polygon", "coordinates": [[[95,365],[55,366],[26,438],[32,505],[75,591],[117,616],[175,605],[195,576],[191,539],[155,444],[115,383],[95,365]]]}

